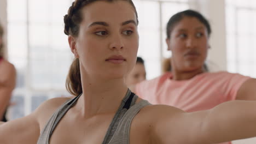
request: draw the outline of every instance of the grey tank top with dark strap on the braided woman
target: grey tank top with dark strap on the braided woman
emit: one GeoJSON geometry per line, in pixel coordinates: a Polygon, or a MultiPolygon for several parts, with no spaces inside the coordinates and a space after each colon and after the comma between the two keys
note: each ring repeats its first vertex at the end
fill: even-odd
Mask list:
{"type": "MultiPolygon", "coordinates": [[[[48,123],[46,123],[44,129],[40,133],[37,144],[49,144],[50,137],[57,124],[66,112],[77,102],[80,95],[66,101],[66,103],[61,105],[60,108],[50,117],[48,123]]],[[[130,126],[133,117],[135,117],[139,110],[144,106],[150,105],[146,100],[141,100],[139,103],[135,104],[137,98],[138,96],[128,89],[124,99],[121,101],[118,111],[115,113],[115,116],[109,125],[102,144],[129,144],[130,126]]]]}

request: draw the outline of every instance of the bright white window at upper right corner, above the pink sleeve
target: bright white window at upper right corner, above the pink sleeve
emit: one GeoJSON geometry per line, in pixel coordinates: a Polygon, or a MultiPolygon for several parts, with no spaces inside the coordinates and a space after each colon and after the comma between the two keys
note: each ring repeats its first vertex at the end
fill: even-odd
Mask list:
{"type": "Polygon", "coordinates": [[[227,66],[256,77],[256,1],[226,1],[227,66]]]}

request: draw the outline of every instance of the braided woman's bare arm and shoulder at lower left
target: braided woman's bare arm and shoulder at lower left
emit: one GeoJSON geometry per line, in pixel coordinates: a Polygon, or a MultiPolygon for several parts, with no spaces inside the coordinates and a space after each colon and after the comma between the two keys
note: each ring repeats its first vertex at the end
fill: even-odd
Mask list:
{"type": "Polygon", "coordinates": [[[45,101],[33,113],[6,123],[0,123],[0,143],[37,143],[40,131],[56,109],[70,98],[45,101]]]}

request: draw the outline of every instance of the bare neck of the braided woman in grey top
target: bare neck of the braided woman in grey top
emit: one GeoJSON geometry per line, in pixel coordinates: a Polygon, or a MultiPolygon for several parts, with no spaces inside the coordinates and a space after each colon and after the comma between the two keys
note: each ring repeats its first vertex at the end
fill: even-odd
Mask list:
{"type": "Polygon", "coordinates": [[[127,93],[127,86],[123,79],[90,80],[82,78],[83,94],[79,98],[78,106],[84,117],[91,117],[99,113],[115,113],[121,100],[127,93]]]}

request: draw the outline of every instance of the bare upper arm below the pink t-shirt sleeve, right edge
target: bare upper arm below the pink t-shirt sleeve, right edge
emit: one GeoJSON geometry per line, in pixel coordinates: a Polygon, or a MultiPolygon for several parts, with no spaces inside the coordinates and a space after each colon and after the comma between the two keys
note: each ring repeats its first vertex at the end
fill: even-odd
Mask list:
{"type": "Polygon", "coordinates": [[[256,100],[256,79],[246,80],[238,89],[237,100],[256,100]]]}

